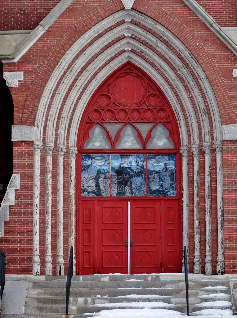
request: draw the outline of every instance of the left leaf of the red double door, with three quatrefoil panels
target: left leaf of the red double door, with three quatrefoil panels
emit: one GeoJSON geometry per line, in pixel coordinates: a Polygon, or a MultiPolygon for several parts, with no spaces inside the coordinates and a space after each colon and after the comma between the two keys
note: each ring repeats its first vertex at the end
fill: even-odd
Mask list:
{"type": "Polygon", "coordinates": [[[97,273],[128,273],[128,201],[98,201],[97,273]]]}

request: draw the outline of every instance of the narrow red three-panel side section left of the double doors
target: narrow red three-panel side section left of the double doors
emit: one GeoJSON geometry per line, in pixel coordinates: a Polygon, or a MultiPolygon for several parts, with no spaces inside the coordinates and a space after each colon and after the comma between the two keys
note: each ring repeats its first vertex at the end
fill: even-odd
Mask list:
{"type": "Polygon", "coordinates": [[[79,274],[94,274],[94,200],[79,201],[79,274]]]}

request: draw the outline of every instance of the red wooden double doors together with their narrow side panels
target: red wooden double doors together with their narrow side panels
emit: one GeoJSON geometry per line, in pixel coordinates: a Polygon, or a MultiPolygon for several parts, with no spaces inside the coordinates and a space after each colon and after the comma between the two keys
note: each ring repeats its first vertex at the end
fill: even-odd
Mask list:
{"type": "Polygon", "coordinates": [[[177,273],[179,201],[80,200],[78,274],[177,273]]]}

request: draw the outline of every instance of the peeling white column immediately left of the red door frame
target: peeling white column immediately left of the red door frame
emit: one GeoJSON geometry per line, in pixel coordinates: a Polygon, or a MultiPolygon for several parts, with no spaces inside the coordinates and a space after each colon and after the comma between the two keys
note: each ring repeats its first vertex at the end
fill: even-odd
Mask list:
{"type": "Polygon", "coordinates": [[[73,275],[76,275],[75,259],[75,160],[77,148],[69,148],[69,253],[73,246],[73,275]]]}

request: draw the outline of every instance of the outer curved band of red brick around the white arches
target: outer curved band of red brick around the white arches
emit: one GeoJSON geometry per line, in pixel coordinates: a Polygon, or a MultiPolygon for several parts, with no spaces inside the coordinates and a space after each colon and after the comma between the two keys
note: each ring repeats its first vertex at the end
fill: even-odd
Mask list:
{"type": "MultiPolygon", "coordinates": [[[[184,44],[186,44],[187,48],[190,49],[190,51],[194,54],[194,56],[200,61],[203,69],[205,70],[208,79],[210,80],[210,83],[212,84],[213,90],[215,92],[220,114],[221,114],[221,120],[222,123],[230,123],[234,121],[234,109],[232,110],[231,107],[229,107],[232,103],[229,97],[229,93],[227,91],[225,81],[223,79],[223,76],[221,76],[220,71],[218,70],[218,67],[214,63],[213,59],[211,58],[210,54],[205,50],[204,46],[201,44],[198,46],[197,50],[197,41],[198,39],[190,32],[186,26],[181,24],[180,21],[178,21],[175,17],[170,15],[167,11],[164,9],[159,8],[157,5],[152,4],[149,1],[145,1],[147,3],[144,3],[143,1],[143,12],[149,13],[152,12],[154,9],[154,6],[156,7],[156,12],[160,12],[160,14],[156,14],[154,16],[154,13],[151,14],[151,17],[157,20],[159,23],[163,24],[167,28],[170,28],[170,30],[176,34],[184,44]],[[152,6],[152,9],[151,9],[152,6]],[[164,14],[166,18],[164,19],[164,14]],[[172,21],[172,24],[170,25],[170,21],[172,21]],[[201,51],[201,52],[199,52],[201,51]],[[222,87],[221,91],[218,89],[219,87],[222,87]],[[223,98],[224,97],[224,98],[223,98]],[[227,114],[227,108],[228,108],[228,114],[227,114]],[[231,109],[231,110],[230,110],[231,109]]],[[[114,4],[114,2],[113,2],[114,4]]],[[[141,5],[140,5],[141,6],[141,5]]],[[[134,3],[134,8],[140,9],[139,1],[136,1],[134,3]]],[[[114,8],[114,6],[112,6],[114,8]]],[[[70,10],[70,8],[68,9],[70,10]]],[[[77,40],[79,38],[79,35],[82,35],[83,32],[85,33],[85,28],[83,29],[83,32],[81,32],[81,26],[86,24],[86,21],[88,17],[93,17],[101,10],[104,10],[106,12],[106,5],[102,5],[94,10],[92,10],[87,16],[80,19],[78,22],[73,24],[71,28],[64,33],[64,35],[58,40],[58,42],[54,45],[54,47],[51,49],[51,51],[48,53],[48,55],[45,57],[42,65],[38,69],[38,72],[32,81],[26,102],[24,104],[24,112],[22,117],[22,124],[28,124],[28,125],[34,125],[36,113],[37,113],[37,107],[39,104],[40,97],[43,94],[44,85],[49,79],[52,71],[55,69],[57,62],[59,62],[59,59],[63,56],[63,54],[66,52],[66,50],[69,48],[68,45],[68,39],[70,39],[70,43],[72,44],[73,41],[77,40]],[[64,48],[64,51],[62,50],[64,48]],[[37,94],[36,94],[37,92],[37,94]],[[32,102],[33,101],[33,102],[32,102]],[[29,117],[29,111],[30,111],[30,117],[29,117]]],[[[117,5],[117,10],[121,10],[121,8],[117,5]]],[[[116,9],[113,10],[115,12],[116,9]]],[[[112,12],[112,13],[113,13],[112,12]]],[[[111,12],[107,12],[108,16],[111,12]]],[[[102,16],[100,16],[101,20],[103,19],[102,16]]],[[[60,18],[59,18],[60,19],[60,18]]],[[[96,21],[98,22],[98,21],[96,21]]],[[[91,25],[90,25],[91,26],[91,25]]],[[[90,26],[87,26],[87,30],[90,29],[90,26]]],[[[116,27],[115,25],[114,27],[116,27]]],[[[106,32],[106,31],[104,31],[106,32]]],[[[104,32],[101,32],[97,37],[100,37],[104,32]]],[[[210,31],[211,32],[211,31],[210,31]]],[[[154,33],[154,32],[153,32],[154,33]]],[[[94,40],[96,40],[94,39],[94,40]]],[[[93,41],[91,41],[93,42],[93,41]]],[[[200,43],[200,41],[198,41],[200,43]]],[[[90,43],[88,44],[90,45],[90,43]]]]}

